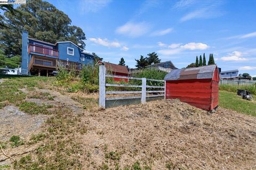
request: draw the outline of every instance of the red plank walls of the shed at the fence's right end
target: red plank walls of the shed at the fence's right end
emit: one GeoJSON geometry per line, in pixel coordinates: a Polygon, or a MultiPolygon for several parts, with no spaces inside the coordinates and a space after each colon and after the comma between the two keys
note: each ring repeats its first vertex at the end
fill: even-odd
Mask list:
{"type": "Polygon", "coordinates": [[[213,110],[219,103],[219,73],[212,78],[166,80],[166,99],[180,99],[192,106],[213,110]]]}

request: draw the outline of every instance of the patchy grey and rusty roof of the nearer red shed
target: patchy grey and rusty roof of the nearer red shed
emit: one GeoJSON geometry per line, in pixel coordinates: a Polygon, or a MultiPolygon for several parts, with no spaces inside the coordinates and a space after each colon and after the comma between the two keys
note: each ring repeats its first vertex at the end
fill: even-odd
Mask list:
{"type": "Polygon", "coordinates": [[[210,66],[194,67],[194,68],[182,68],[172,70],[164,77],[164,80],[185,80],[185,79],[206,79],[213,78],[213,73],[216,64],[210,66]]]}

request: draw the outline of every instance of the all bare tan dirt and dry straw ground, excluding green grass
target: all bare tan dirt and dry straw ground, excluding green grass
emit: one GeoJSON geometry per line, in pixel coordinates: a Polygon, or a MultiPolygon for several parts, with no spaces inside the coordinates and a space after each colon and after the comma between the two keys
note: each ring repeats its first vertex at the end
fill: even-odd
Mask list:
{"type": "MultiPolygon", "coordinates": [[[[26,88],[21,91],[32,94],[26,88]]],[[[50,93],[54,98],[26,101],[54,104],[51,109],[68,107],[74,117],[82,115],[73,125],[78,127],[70,128],[71,140],[81,143],[75,157],[81,163],[79,169],[132,169],[136,163],[142,169],[256,169],[256,117],[223,108],[210,114],[178,100],[106,110],[95,105],[94,111],[89,111],[73,100],[79,93],[64,95],[39,88],[35,92],[50,93]]],[[[82,96],[97,99],[97,94],[82,96]]],[[[45,123],[49,115],[27,115],[14,106],[5,106],[0,112],[1,140],[13,134],[26,138],[49,128],[45,123]]],[[[5,151],[9,155],[24,151],[36,155],[36,146],[21,145],[5,151]]],[[[2,152],[0,158],[6,158],[2,152]]],[[[0,165],[10,163],[9,159],[0,165]]]]}

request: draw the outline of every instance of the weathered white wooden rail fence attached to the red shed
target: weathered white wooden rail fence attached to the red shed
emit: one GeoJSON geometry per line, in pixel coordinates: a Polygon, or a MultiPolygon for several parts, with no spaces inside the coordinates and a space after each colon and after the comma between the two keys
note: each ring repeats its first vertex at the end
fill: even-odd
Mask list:
{"type": "MultiPolygon", "coordinates": [[[[151,98],[149,100],[158,99],[158,97],[165,97],[165,82],[164,80],[157,80],[157,79],[148,79],[148,78],[138,78],[138,77],[127,77],[127,76],[117,76],[117,75],[107,75],[106,68],[104,65],[99,66],[99,107],[107,108],[109,106],[106,105],[108,101],[114,101],[113,106],[118,100],[124,100],[124,104],[133,104],[135,99],[140,99],[141,103],[146,103],[147,98],[151,98]],[[122,78],[122,79],[137,79],[142,81],[142,85],[129,85],[129,84],[109,84],[106,83],[106,77],[113,77],[113,78],[122,78]],[[163,82],[164,86],[149,86],[147,85],[148,81],[154,82],[163,82]],[[113,87],[138,87],[141,88],[141,91],[106,91],[106,86],[113,86],[113,87]],[[154,90],[154,91],[147,91],[147,88],[157,88],[161,90],[154,90]],[[155,95],[148,95],[147,93],[163,93],[163,94],[155,94],[155,95]],[[106,98],[106,94],[141,94],[141,96],[124,96],[124,97],[116,97],[116,98],[106,98]],[[125,101],[126,100],[126,101],[125,101]],[[127,101],[132,100],[132,101],[127,101]]],[[[108,104],[109,105],[109,104],[108,104]]],[[[121,105],[121,104],[119,104],[121,105]]]]}

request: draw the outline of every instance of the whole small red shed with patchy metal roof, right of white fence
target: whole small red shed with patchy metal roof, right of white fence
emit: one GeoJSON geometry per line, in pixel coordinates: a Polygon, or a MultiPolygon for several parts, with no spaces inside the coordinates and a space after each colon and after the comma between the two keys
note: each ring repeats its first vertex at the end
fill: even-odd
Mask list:
{"type": "Polygon", "coordinates": [[[164,78],[166,99],[180,99],[192,106],[213,110],[219,104],[219,71],[217,66],[172,70],[164,78]]]}

